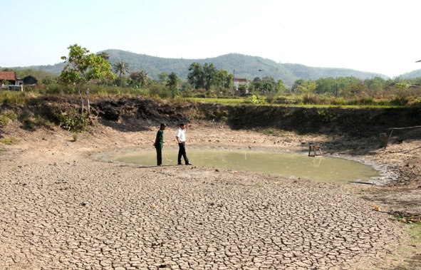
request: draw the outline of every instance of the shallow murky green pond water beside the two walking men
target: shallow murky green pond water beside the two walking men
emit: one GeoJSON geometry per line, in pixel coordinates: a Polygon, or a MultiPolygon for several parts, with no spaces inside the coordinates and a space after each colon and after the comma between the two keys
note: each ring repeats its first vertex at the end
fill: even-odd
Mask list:
{"type": "MultiPolygon", "coordinates": [[[[174,149],[164,150],[162,152],[162,165],[177,166],[177,151],[174,149]]],[[[308,157],[307,153],[189,149],[187,150],[187,156],[195,166],[264,172],[284,177],[301,177],[326,182],[372,182],[380,177],[378,171],[373,167],[360,162],[337,157],[308,157]]],[[[126,152],[115,154],[110,158],[119,162],[138,165],[156,165],[155,150],[126,152]]]]}

